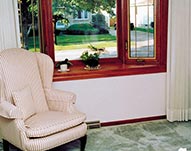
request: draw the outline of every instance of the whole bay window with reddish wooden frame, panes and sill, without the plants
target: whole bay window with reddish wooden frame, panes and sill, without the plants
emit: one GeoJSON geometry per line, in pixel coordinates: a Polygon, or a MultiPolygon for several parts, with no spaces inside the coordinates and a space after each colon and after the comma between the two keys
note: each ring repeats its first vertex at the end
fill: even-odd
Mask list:
{"type": "Polygon", "coordinates": [[[55,73],[55,76],[81,79],[85,71],[80,55],[89,44],[108,50],[108,54],[101,56],[103,68],[89,71],[90,77],[166,71],[168,0],[108,0],[112,7],[110,11],[101,6],[105,1],[100,0],[96,3],[100,5],[99,10],[91,10],[88,6],[80,7],[86,5],[84,1],[79,1],[78,6],[70,8],[64,2],[38,0],[40,50],[55,62],[66,58],[74,62],[70,73],[55,73]],[[62,25],[60,29],[63,30],[59,34],[55,32],[59,29],[55,24],[55,13],[62,14],[59,22],[62,25]],[[101,23],[103,26],[97,27],[101,23]],[[96,29],[96,32],[71,32],[75,26],[87,29],[87,25],[93,31],[96,29]],[[98,34],[100,29],[105,33],[98,34]]]}

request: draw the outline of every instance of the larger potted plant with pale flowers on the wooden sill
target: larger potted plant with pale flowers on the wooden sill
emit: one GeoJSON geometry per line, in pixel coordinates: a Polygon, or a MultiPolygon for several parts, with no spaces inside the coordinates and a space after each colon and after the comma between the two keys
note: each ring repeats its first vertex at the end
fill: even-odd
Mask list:
{"type": "Polygon", "coordinates": [[[82,53],[80,58],[85,64],[85,69],[93,70],[99,69],[99,56],[101,53],[105,52],[105,48],[96,48],[93,45],[89,45],[90,50],[86,50],[82,53]]]}

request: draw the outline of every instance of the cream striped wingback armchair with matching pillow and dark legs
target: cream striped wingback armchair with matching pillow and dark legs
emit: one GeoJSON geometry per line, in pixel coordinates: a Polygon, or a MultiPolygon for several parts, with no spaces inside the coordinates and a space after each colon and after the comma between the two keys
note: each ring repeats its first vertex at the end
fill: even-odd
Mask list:
{"type": "Polygon", "coordinates": [[[80,139],[86,143],[85,114],[75,94],[52,87],[53,61],[24,49],[0,52],[0,136],[20,150],[49,150],[80,139]]]}

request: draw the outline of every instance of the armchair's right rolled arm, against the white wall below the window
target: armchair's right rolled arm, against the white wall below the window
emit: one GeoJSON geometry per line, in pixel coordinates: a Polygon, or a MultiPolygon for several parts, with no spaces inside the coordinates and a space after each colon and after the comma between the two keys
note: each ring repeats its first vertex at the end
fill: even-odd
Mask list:
{"type": "Polygon", "coordinates": [[[72,92],[45,89],[45,95],[50,110],[73,112],[76,95],[72,92]]]}

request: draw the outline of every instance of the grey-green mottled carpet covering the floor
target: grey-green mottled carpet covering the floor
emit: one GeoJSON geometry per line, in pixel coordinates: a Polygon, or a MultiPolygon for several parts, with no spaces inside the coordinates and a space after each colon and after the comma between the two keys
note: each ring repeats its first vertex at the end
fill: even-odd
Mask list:
{"type": "MultiPolygon", "coordinates": [[[[79,151],[79,141],[62,151],[79,151]]],[[[191,122],[166,120],[88,130],[86,151],[191,151],[191,122]]],[[[1,151],[1,149],[0,149],[1,151]]]]}

